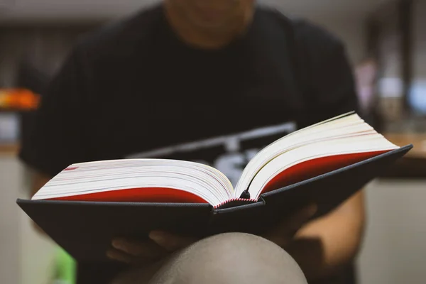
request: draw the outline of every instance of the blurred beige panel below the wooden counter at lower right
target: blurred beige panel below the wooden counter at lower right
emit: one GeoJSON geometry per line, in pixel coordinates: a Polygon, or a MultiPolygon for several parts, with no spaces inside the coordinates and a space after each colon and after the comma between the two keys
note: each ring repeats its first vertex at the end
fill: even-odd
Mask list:
{"type": "Polygon", "coordinates": [[[426,283],[425,189],[425,180],[376,180],[367,187],[359,284],[426,283]]]}

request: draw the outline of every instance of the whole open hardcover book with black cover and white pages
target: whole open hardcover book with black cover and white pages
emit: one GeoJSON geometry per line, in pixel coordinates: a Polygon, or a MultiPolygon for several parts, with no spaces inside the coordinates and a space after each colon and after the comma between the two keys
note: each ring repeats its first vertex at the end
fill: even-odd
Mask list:
{"type": "Polygon", "coordinates": [[[398,147],[357,114],[323,121],[263,148],[235,188],[224,174],[183,160],[70,165],[19,206],[79,261],[106,261],[116,236],[153,229],[191,236],[262,234],[307,203],[327,214],[413,146],[398,147]]]}

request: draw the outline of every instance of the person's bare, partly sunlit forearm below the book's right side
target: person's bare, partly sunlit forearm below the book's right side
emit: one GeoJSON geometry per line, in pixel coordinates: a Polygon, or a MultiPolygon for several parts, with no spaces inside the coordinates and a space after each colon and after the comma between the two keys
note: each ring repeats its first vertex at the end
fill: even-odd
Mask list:
{"type": "Polygon", "coordinates": [[[317,280],[351,263],[364,232],[364,192],[358,192],[325,217],[300,229],[287,248],[308,280],[317,280]]]}

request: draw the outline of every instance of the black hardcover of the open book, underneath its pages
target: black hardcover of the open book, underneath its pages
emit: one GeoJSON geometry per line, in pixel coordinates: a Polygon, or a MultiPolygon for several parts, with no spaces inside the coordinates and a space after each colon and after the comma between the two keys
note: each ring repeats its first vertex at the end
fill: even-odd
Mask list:
{"type": "Polygon", "coordinates": [[[107,261],[114,237],[145,239],[153,229],[190,236],[229,231],[262,234],[296,209],[316,202],[327,214],[366,183],[383,174],[412,145],[383,153],[288,187],[261,195],[258,202],[170,204],[17,200],[18,205],[77,261],[107,261]]]}

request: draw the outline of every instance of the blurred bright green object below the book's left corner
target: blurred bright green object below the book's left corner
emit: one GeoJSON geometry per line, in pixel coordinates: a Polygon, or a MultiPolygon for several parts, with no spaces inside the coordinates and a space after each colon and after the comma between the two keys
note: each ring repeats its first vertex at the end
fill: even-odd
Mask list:
{"type": "Polygon", "coordinates": [[[58,248],[55,262],[54,284],[75,284],[76,263],[66,251],[58,248]]]}

